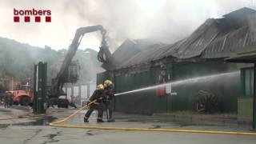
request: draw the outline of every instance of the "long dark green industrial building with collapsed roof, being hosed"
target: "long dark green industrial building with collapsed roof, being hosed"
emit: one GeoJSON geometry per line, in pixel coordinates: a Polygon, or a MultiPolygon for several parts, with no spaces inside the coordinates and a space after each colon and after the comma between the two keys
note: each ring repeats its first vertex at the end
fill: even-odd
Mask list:
{"type": "Polygon", "coordinates": [[[209,18],[190,36],[169,45],[128,39],[112,54],[114,64],[102,65],[106,71],[97,75],[97,82],[109,78],[121,93],[202,77],[172,86],[176,95],[168,94],[168,87],[119,95],[114,110],[140,114],[195,110],[198,91],[204,90],[218,97],[222,112],[237,114],[240,72],[224,59],[234,57],[238,48],[256,44],[255,16],[255,10],[242,8],[209,18]],[[204,78],[212,74],[214,78],[204,78]]]}

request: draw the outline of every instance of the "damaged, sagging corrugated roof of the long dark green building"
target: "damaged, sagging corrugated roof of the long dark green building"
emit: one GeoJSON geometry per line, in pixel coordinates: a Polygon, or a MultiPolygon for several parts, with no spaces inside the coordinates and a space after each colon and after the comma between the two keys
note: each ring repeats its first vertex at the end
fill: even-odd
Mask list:
{"type": "Polygon", "coordinates": [[[113,54],[115,62],[118,62],[113,68],[129,67],[166,57],[186,59],[234,56],[238,47],[256,45],[255,12],[249,8],[242,8],[223,15],[223,18],[209,18],[189,37],[174,44],[150,44],[145,45],[142,50],[138,47],[130,49],[120,46],[113,54]],[[119,55],[119,49],[126,49],[128,52],[119,55]]]}

